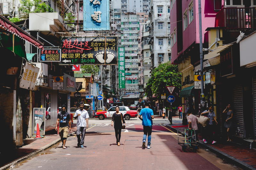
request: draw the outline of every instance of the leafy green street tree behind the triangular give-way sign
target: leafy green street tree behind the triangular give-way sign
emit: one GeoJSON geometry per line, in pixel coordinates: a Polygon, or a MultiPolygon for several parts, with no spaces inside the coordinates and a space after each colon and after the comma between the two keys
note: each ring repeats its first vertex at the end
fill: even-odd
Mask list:
{"type": "Polygon", "coordinates": [[[160,64],[151,71],[151,78],[146,86],[146,95],[161,96],[165,93],[166,86],[170,85],[181,88],[181,73],[178,71],[178,65],[173,65],[171,62],[160,64]]]}

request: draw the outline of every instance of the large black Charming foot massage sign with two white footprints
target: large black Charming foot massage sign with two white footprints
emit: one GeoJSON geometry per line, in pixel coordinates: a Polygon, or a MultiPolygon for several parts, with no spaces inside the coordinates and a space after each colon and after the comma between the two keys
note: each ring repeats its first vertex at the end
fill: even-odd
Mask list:
{"type": "Polygon", "coordinates": [[[116,65],[117,37],[62,37],[60,65],[116,65]]]}

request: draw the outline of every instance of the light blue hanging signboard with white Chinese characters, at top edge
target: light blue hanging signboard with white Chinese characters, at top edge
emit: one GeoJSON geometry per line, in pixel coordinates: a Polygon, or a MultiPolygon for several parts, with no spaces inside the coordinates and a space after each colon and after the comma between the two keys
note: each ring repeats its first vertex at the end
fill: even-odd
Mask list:
{"type": "Polygon", "coordinates": [[[109,1],[84,0],[84,31],[109,30],[109,1]]]}

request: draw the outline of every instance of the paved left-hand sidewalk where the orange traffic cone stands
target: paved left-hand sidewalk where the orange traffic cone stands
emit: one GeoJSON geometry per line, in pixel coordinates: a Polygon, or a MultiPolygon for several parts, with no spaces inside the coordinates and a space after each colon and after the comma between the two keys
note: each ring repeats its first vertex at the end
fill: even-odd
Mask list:
{"type": "MultiPolygon", "coordinates": [[[[76,132],[76,124],[71,124],[69,136],[76,132]]],[[[51,147],[60,141],[55,129],[47,131],[47,135],[42,139],[26,138],[23,139],[24,145],[20,148],[9,150],[8,153],[0,153],[0,170],[10,168],[25,159],[51,147]]]]}

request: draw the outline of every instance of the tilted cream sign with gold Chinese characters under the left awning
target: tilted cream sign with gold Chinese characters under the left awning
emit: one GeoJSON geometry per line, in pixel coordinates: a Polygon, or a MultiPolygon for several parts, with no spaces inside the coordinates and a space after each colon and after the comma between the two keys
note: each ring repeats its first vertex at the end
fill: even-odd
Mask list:
{"type": "Polygon", "coordinates": [[[20,78],[20,88],[34,90],[39,68],[26,62],[23,67],[22,77],[20,78]]]}

